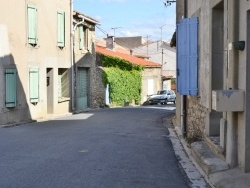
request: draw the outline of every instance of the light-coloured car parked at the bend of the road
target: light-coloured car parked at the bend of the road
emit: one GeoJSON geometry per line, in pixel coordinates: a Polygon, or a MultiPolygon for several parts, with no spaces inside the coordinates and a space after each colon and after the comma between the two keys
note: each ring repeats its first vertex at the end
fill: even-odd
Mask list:
{"type": "Polygon", "coordinates": [[[167,104],[173,102],[175,104],[176,94],[173,90],[160,90],[156,95],[151,95],[148,99],[149,104],[167,104]]]}

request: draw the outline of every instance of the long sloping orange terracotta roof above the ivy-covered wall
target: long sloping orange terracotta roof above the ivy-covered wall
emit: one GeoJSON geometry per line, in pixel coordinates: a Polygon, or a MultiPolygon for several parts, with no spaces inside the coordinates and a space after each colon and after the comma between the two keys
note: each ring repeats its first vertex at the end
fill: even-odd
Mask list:
{"type": "Polygon", "coordinates": [[[122,53],[120,51],[119,52],[118,51],[112,51],[112,50],[109,50],[109,49],[107,49],[107,48],[105,48],[103,46],[99,46],[99,45],[96,45],[96,52],[100,53],[100,54],[103,54],[103,55],[124,59],[124,60],[127,60],[129,62],[132,61],[131,62],[132,64],[141,65],[141,66],[144,66],[144,67],[161,67],[161,64],[154,63],[152,61],[141,59],[141,58],[138,58],[138,57],[135,57],[135,56],[131,57],[131,55],[129,55],[127,53],[122,53]]]}

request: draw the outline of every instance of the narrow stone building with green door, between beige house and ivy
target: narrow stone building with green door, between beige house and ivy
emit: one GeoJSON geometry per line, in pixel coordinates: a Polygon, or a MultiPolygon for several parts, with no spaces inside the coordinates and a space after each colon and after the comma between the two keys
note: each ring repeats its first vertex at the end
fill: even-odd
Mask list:
{"type": "Polygon", "coordinates": [[[95,25],[99,22],[74,11],[74,108],[99,108],[99,81],[95,54],[95,25]]]}

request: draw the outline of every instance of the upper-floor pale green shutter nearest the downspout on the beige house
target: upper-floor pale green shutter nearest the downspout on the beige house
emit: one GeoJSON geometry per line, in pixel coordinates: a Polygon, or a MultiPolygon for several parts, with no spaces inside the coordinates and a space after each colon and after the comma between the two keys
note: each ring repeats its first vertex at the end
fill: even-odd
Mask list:
{"type": "Polygon", "coordinates": [[[57,12],[57,45],[59,47],[65,46],[65,14],[64,12],[57,12]]]}

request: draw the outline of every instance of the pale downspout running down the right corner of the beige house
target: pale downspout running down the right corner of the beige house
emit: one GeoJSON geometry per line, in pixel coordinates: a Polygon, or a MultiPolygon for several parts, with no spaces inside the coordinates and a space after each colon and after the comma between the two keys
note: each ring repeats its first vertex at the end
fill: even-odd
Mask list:
{"type": "Polygon", "coordinates": [[[75,111],[73,3],[74,3],[74,0],[70,0],[70,58],[71,58],[71,110],[72,112],[75,111]]]}

